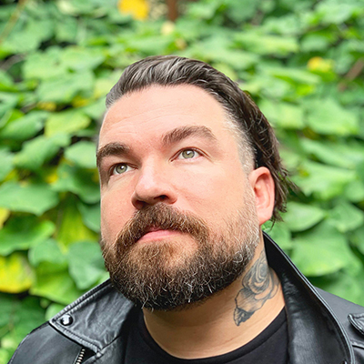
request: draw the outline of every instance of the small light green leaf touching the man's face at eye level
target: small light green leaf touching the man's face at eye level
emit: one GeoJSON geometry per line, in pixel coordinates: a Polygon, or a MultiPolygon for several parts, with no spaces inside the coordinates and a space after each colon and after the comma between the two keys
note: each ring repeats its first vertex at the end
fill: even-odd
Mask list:
{"type": "Polygon", "coordinates": [[[83,168],[96,168],[96,145],[80,141],[66,149],[65,157],[83,168]]]}

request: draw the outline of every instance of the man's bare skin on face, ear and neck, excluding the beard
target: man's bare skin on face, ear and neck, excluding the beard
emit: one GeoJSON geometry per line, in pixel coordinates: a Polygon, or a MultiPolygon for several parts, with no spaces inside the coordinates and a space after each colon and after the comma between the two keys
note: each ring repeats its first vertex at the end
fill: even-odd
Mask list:
{"type": "MultiPolygon", "coordinates": [[[[116,240],[136,210],[159,202],[202,217],[217,232],[226,227],[232,213],[244,207],[247,193],[255,200],[257,224],[271,217],[272,177],[265,167],[247,170],[242,166],[236,136],[225,119],[217,101],[196,86],[150,86],[123,96],[108,110],[97,161],[101,230],[108,244],[116,240]],[[186,129],[194,132],[183,135],[181,130],[186,129]]],[[[177,264],[181,254],[191,255],[196,249],[193,238],[166,230],[149,231],[136,244],[167,242],[178,246],[178,255],[170,259],[170,265],[177,264]]],[[[245,274],[254,271],[257,261],[267,266],[261,232],[245,274]]],[[[271,289],[268,294],[244,298],[248,279],[244,281],[243,275],[189,309],[144,309],[147,329],[162,349],[178,358],[206,358],[237,349],[254,339],[284,307],[278,278],[268,267],[267,272],[274,282],[274,290],[264,288],[267,292],[271,289]],[[254,314],[237,322],[237,307],[253,309],[254,314]]]]}

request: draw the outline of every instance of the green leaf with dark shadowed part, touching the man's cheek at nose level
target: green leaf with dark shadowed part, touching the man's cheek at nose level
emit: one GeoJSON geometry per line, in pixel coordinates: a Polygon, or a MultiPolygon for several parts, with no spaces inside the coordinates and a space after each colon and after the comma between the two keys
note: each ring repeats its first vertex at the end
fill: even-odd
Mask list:
{"type": "Polygon", "coordinates": [[[58,180],[53,185],[56,191],[70,191],[89,204],[100,200],[100,187],[96,170],[81,170],[62,164],[57,170],[58,180]]]}

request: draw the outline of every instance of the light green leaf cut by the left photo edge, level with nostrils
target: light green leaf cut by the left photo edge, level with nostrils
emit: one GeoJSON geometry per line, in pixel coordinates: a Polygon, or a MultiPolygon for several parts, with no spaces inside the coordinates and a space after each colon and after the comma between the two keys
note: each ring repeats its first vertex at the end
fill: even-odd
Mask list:
{"type": "Polygon", "coordinates": [[[0,187],[0,207],[13,211],[42,215],[57,203],[56,192],[44,184],[6,182],[0,187]]]}

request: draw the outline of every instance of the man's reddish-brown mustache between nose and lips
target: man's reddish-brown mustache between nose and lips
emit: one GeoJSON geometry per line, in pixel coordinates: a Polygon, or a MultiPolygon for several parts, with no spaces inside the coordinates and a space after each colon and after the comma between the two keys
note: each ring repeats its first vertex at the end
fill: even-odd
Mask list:
{"type": "Polygon", "coordinates": [[[136,211],[117,236],[116,246],[131,247],[148,231],[156,228],[187,233],[197,241],[203,241],[209,236],[207,224],[200,217],[158,203],[136,211]]]}

